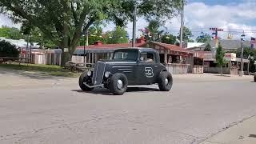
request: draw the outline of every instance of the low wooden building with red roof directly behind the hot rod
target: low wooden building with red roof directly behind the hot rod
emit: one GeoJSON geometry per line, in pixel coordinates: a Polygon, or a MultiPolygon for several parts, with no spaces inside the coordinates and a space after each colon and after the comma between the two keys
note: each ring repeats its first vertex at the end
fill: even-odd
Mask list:
{"type": "MultiPolygon", "coordinates": [[[[94,63],[100,59],[110,59],[113,56],[114,50],[127,47],[131,47],[131,44],[103,44],[102,42],[95,42],[94,45],[90,46],[78,46],[72,57],[72,62],[83,63],[84,58],[86,58],[86,63],[94,63]]],[[[197,72],[197,70],[193,71],[194,66],[198,65],[194,65],[194,52],[190,50],[160,42],[145,42],[144,38],[137,39],[136,47],[148,47],[158,50],[160,61],[166,65],[166,68],[172,74],[197,72]]]]}

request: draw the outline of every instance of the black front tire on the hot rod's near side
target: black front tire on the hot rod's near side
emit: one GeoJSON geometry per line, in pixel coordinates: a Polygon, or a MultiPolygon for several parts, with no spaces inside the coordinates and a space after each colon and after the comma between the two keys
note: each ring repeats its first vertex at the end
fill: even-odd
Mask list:
{"type": "Polygon", "coordinates": [[[128,80],[125,74],[116,73],[110,78],[110,92],[114,95],[122,95],[126,92],[128,86],[128,80]],[[118,80],[122,81],[122,87],[118,88],[118,80]]]}

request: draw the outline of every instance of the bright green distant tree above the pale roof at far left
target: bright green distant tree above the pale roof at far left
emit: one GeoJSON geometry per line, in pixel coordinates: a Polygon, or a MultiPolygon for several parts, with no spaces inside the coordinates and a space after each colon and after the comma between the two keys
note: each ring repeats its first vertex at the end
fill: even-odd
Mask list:
{"type": "Polygon", "coordinates": [[[22,39],[23,35],[20,30],[14,27],[3,26],[0,28],[0,37],[10,38],[10,39],[22,39]]]}

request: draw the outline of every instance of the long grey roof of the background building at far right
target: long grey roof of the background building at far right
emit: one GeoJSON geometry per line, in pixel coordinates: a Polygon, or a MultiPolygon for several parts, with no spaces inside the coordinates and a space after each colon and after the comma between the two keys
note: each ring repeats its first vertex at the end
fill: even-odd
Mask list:
{"type": "MultiPolygon", "coordinates": [[[[223,49],[227,49],[227,50],[237,50],[238,48],[241,47],[241,40],[227,40],[227,39],[222,39],[222,40],[218,40],[218,42],[221,43],[223,49]]],[[[211,47],[215,47],[215,41],[211,40],[210,42],[210,46],[211,47]]],[[[205,43],[204,45],[202,45],[203,47],[206,47],[207,43],[205,43]]],[[[245,41],[243,42],[244,46],[249,46],[250,47],[250,41],[245,41]]]]}

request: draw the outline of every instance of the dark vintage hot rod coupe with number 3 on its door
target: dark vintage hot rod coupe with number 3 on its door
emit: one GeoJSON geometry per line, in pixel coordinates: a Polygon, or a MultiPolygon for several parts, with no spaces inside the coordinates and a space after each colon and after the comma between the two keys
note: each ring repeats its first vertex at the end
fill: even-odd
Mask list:
{"type": "Polygon", "coordinates": [[[124,94],[127,86],[151,84],[169,91],[173,78],[160,63],[158,51],[150,48],[115,50],[111,60],[96,62],[93,70],[85,71],[79,78],[82,90],[105,87],[116,95],[124,94]]]}

